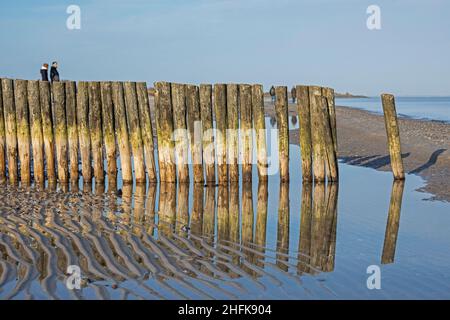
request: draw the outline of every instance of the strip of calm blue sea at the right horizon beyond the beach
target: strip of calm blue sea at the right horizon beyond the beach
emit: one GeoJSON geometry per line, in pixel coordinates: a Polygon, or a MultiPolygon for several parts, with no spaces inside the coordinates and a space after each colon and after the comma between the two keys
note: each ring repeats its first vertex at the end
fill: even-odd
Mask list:
{"type": "MultiPolygon", "coordinates": [[[[450,97],[396,97],[397,113],[415,119],[450,122],[450,97]]],[[[380,97],[336,99],[336,105],[382,113],[380,97]]]]}

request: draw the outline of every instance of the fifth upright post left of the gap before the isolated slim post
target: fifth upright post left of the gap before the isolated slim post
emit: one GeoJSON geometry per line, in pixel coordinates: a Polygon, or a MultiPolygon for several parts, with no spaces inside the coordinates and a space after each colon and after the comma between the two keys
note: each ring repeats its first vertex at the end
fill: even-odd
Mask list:
{"type": "Polygon", "coordinates": [[[200,85],[200,116],[203,129],[203,161],[205,163],[206,184],[216,183],[214,132],[212,121],[212,86],[200,85]]]}

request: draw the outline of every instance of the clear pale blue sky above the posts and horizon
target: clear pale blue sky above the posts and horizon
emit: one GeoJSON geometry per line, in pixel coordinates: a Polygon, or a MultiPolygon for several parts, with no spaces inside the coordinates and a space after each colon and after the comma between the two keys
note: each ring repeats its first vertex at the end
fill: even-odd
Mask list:
{"type": "Polygon", "coordinates": [[[318,84],[450,95],[447,0],[39,0],[0,4],[0,76],[318,84]],[[66,8],[81,8],[68,30],[66,8]],[[369,31],[366,9],[381,8],[369,31]]]}

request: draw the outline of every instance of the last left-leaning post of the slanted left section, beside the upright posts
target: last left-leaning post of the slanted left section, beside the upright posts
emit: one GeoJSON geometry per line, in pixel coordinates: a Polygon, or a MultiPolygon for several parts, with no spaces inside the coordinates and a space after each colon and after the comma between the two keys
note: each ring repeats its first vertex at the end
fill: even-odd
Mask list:
{"type": "Polygon", "coordinates": [[[139,121],[141,125],[142,140],[144,143],[145,167],[147,169],[148,180],[156,183],[155,149],[153,139],[153,126],[150,115],[150,103],[148,98],[147,83],[136,83],[139,107],[139,121]]]}

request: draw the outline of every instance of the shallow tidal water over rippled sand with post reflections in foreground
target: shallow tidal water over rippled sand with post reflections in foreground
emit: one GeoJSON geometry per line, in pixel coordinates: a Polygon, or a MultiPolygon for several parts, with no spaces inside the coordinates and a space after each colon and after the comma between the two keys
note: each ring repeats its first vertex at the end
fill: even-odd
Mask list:
{"type": "Polygon", "coordinates": [[[298,146],[290,157],[281,185],[259,184],[256,168],[229,188],[3,185],[0,298],[450,298],[450,205],[424,201],[419,177],[340,164],[339,186],[313,187],[298,146]],[[367,288],[371,265],[380,290],[367,288]]]}

